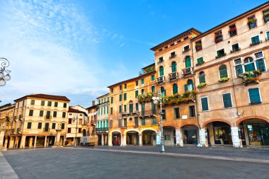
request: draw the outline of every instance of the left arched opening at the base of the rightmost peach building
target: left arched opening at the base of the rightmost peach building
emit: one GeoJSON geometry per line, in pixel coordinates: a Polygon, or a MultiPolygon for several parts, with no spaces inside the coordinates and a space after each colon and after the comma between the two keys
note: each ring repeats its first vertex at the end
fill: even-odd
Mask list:
{"type": "Polygon", "coordinates": [[[207,122],[207,142],[209,145],[232,145],[231,125],[227,122],[207,122]],[[223,142],[223,143],[222,143],[223,142]]]}

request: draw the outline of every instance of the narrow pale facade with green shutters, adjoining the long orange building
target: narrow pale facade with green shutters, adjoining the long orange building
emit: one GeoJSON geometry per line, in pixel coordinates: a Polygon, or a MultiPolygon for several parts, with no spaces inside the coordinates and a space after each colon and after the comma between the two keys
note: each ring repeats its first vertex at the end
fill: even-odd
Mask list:
{"type": "Polygon", "coordinates": [[[99,96],[96,134],[98,145],[108,145],[109,93],[99,96]]]}

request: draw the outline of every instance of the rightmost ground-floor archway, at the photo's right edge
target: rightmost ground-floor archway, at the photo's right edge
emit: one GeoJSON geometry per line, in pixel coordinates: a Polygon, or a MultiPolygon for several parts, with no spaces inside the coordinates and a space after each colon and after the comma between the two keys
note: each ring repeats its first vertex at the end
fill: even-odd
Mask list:
{"type": "Polygon", "coordinates": [[[269,122],[259,118],[241,120],[239,139],[243,146],[269,146],[269,122]]]}

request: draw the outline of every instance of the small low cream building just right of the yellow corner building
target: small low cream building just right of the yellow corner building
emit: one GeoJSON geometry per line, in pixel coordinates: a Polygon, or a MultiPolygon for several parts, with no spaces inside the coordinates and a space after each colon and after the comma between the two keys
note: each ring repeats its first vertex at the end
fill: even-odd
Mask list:
{"type": "Polygon", "coordinates": [[[69,107],[66,145],[79,145],[81,137],[87,135],[88,115],[86,112],[69,107]]]}

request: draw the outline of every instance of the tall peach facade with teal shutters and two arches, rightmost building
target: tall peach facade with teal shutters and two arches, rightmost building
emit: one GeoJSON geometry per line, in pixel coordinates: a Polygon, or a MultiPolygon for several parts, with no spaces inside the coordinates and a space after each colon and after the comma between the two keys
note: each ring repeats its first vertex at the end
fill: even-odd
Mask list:
{"type": "Polygon", "coordinates": [[[201,144],[269,146],[269,4],[194,37],[201,144]]]}

